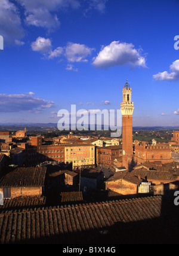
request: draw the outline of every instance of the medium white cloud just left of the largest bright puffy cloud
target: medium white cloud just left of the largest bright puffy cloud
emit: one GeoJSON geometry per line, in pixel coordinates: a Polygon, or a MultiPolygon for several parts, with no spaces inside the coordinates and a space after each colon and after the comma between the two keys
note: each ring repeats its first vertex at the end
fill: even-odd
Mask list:
{"type": "Polygon", "coordinates": [[[87,47],[84,44],[74,44],[69,42],[66,47],[66,58],[69,62],[88,62],[85,59],[88,55],[91,54],[92,48],[87,47]]]}

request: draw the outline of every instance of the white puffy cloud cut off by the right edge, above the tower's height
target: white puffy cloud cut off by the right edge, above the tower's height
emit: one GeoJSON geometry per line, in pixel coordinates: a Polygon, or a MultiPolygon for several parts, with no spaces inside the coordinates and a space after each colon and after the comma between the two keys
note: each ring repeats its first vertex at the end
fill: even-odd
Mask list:
{"type": "Polygon", "coordinates": [[[170,65],[168,73],[167,71],[159,72],[153,75],[153,79],[156,81],[177,81],[179,80],[179,60],[175,60],[172,65],[170,65]]]}

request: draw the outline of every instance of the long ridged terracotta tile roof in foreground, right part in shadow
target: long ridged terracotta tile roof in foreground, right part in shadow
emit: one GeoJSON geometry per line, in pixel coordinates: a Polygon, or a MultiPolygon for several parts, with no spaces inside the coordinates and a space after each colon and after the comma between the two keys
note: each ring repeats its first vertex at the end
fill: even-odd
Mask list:
{"type": "Polygon", "coordinates": [[[175,243],[172,197],[143,197],[0,214],[0,243],[175,243]]]}

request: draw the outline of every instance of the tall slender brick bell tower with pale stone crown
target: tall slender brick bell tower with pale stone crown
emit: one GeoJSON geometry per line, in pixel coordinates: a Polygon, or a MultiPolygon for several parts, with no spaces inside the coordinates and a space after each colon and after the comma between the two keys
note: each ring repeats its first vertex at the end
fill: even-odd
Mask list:
{"type": "Polygon", "coordinates": [[[132,89],[128,82],[125,83],[122,89],[123,102],[121,103],[122,112],[122,164],[129,169],[132,162],[133,147],[132,147],[132,114],[134,111],[134,102],[131,100],[132,89]]]}

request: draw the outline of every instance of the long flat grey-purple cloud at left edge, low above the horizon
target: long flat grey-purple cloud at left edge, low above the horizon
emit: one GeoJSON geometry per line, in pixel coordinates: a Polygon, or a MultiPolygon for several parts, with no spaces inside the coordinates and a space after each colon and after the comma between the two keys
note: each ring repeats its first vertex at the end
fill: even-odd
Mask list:
{"type": "Polygon", "coordinates": [[[51,108],[54,102],[33,97],[32,95],[7,95],[0,94],[0,112],[20,112],[20,111],[42,111],[51,108]]]}

